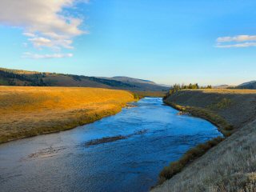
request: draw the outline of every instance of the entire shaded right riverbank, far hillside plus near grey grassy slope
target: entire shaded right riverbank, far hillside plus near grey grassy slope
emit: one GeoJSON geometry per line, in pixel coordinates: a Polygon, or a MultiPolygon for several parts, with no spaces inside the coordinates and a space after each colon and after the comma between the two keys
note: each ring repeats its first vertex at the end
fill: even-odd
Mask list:
{"type": "Polygon", "coordinates": [[[206,118],[231,136],[152,191],[256,190],[255,90],[180,90],[165,102],[206,118]]]}

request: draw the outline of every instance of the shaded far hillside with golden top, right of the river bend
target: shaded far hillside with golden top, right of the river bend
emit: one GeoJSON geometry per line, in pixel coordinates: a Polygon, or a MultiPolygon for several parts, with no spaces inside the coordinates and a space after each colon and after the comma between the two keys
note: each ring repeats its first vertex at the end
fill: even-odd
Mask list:
{"type": "Polygon", "coordinates": [[[256,117],[256,90],[181,90],[166,99],[180,106],[194,106],[218,114],[234,129],[256,117]]]}

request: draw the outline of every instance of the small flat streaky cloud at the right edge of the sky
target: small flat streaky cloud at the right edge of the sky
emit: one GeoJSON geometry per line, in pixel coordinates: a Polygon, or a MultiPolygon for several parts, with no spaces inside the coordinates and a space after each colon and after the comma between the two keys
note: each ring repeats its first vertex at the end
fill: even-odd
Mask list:
{"type": "Polygon", "coordinates": [[[249,46],[256,46],[256,35],[237,35],[234,37],[217,38],[216,47],[218,48],[242,48],[249,46]]]}

